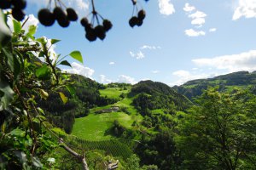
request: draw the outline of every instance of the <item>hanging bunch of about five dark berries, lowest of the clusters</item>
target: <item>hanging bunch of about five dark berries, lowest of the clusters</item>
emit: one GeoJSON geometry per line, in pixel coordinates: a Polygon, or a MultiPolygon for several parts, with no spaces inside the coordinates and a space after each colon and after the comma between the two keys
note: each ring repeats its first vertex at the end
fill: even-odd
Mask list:
{"type": "Polygon", "coordinates": [[[98,14],[95,10],[92,12],[92,21],[89,22],[89,20],[84,17],[81,20],[81,25],[84,26],[85,37],[90,42],[96,41],[96,38],[100,38],[101,40],[104,40],[106,37],[106,32],[109,31],[112,28],[112,23],[110,20],[103,19],[100,14],[98,14]],[[100,25],[99,17],[102,19],[102,25],[100,25]],[[97,22],[97,25],[94,27],[93,23],[97,22]]]}

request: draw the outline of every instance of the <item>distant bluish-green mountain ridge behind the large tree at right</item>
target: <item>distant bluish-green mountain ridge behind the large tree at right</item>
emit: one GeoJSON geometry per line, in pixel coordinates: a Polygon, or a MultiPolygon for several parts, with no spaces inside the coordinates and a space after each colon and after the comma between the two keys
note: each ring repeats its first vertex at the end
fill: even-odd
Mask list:
{"type": "Polygon", "coordinates": [[[220,91],[230,91],[234,88],[247,88],[256,85],[256,71],[249,73],[248,71],[238,71],[227,75],[208,79],[197,79],[184,83],[181,86],[174,86],[178,94],[183,94],[188,99],[193,99],[202,94],[204,89],[208,87],[219,87],[220,91]]]}

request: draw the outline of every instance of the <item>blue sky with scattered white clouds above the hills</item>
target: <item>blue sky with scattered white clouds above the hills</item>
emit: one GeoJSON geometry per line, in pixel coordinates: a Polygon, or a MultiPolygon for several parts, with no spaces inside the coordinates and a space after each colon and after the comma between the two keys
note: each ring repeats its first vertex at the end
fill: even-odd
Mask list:
{"type": "MultiPolygon", "coordinates": [[[[137,0],[147,17],[131,28],[131,1],[95,0],[96,10],[113,22],[104,41],[88,42],[79,22],[68,28],[38,24],[37,37],[61,39],[55,53],[79,50],[84,65],[69,59],[65,71],[97,82],[151,79],[173,86],[191,79],[233,71],[256,70],[256,0],[137,0]]],[[[26,14],[37,16],[47,0],[27,0],[26,14]]],[[[90,13],[90,1],[63,0],[79,16],[90,13]]],[[[33,17],[30,23],[37,23],[33,17]]]]}

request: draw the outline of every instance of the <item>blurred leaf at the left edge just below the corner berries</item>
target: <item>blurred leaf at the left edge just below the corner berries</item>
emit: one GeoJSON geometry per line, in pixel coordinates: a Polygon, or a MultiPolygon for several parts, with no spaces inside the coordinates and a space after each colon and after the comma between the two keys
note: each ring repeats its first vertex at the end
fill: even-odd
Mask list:
{"type": "Polygon", "coordinates": [[[9,30],[9,27],[6,26],[4,14],[2,10],[0,10],[0,50],[11,40],[11,35],[12,34],[11,31],[9,30]]]}

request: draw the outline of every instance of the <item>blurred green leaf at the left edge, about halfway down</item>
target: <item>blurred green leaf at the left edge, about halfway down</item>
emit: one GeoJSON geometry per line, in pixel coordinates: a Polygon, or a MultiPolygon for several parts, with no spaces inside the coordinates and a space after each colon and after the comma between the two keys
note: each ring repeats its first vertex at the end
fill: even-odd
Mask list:
{"type": "Polygon", "coordinates": [[[0,92],[0,111],[3,111],[11,104],[15,94],[8,81],[3,77],[0,77],[0,92]]]}

